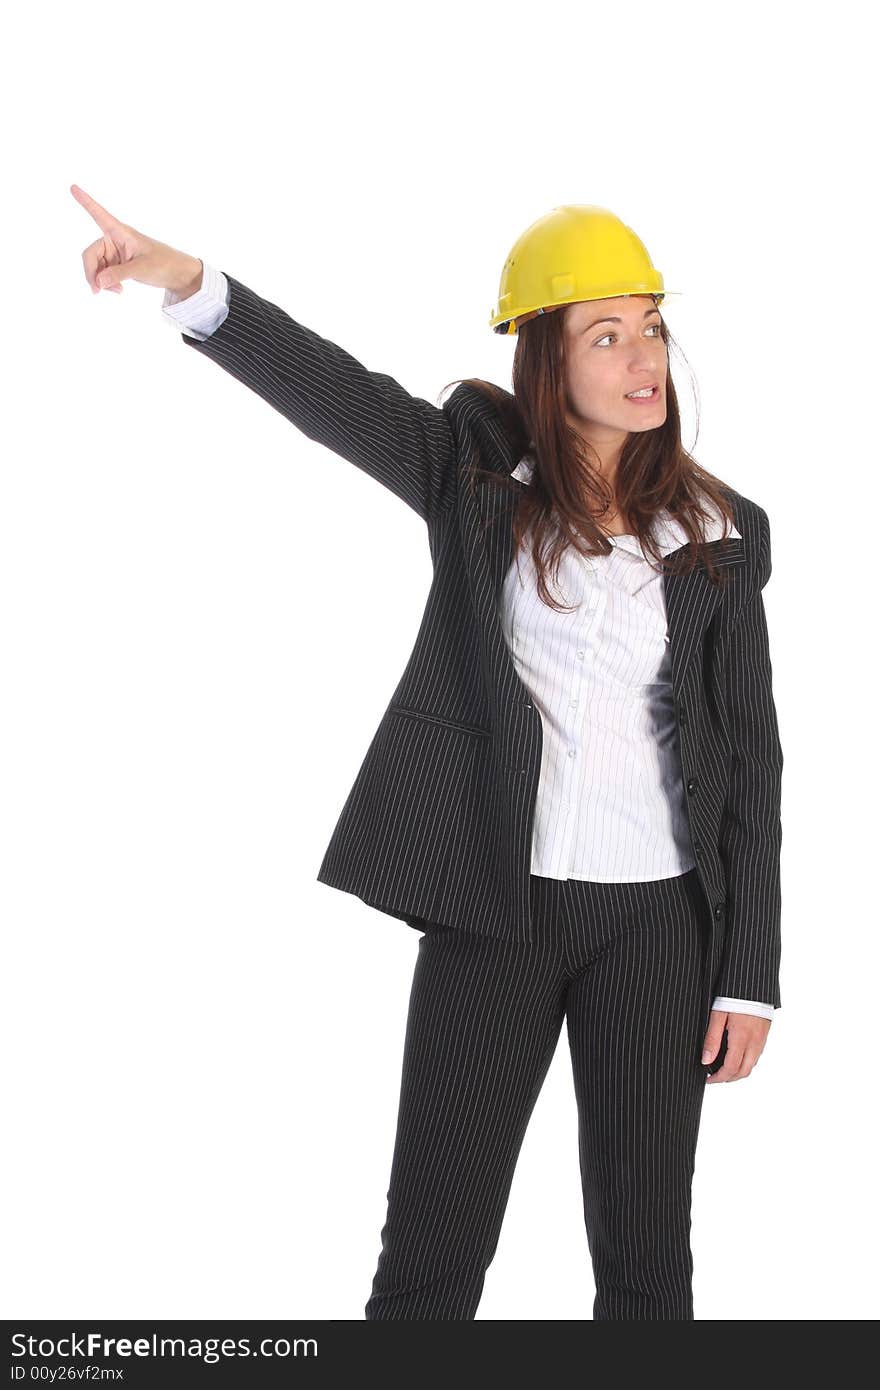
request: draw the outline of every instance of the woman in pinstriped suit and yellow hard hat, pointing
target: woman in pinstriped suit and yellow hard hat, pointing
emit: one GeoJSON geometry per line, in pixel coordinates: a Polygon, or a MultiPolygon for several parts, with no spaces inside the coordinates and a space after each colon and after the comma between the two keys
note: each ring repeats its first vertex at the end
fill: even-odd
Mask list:
{"type": "Polygon", "coordinates": [[[614,214],[555,208],[491,320],[513,393],[438,409],[72,193],[93,291],[163,286],[188,346],[428,528],[416,646],[318,870],[421,933],[366,1316],[475,1316],[566,1020],[594,1318],[692,1319],[705,1083],[749,1074],[781,1002],[783,758],[767,516],[681,446],[662,277],[614,214]]]}

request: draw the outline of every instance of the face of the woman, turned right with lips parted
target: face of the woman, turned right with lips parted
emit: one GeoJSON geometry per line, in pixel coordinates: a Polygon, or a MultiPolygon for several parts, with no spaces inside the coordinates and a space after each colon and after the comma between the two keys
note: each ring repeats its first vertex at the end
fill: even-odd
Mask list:
{"type": "Polygon", "coordinates": [[[570,423],[591,441],[614,442],[666,420],[666,343],[651,295],[591,299],[564,310],[570,423]],[[613,320],[609,322],[608,320],[613,320]],[[651,399],[630,392],[653,385],[651,399]]]}

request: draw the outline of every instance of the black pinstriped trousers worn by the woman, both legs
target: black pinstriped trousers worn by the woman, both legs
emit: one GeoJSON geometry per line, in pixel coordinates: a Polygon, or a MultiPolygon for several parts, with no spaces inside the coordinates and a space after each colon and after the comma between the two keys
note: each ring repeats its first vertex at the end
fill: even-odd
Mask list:
{"type": "Polygon", "coordinates": [[[367,1319],[473,1319],[525,1127],[567,1023],[594,1319],[692,1319],[708,1069],[696,870],[532,874],[531,942],[425,924],[367,1319]]]}

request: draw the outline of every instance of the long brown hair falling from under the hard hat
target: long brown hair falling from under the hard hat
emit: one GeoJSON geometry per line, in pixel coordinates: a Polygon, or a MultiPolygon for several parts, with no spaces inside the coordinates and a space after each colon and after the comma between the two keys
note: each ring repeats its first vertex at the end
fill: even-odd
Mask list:
{"type": "MultiPolygon", "coordinates": [[[[468,385],[482,392],[498,410],[514,452],[528,450],[535,461],[532,481],[521,488],[513,514],[512,559],[531,530],[538,595],[551,607],[564,610],[564,605],[551,598],[548,574],[552,570],[557,575],[567,545],[585,556],[609,555],[612,543],[596,516],[616,506],[617,514],[628,520],[631,534],[639,539],[645,555],[660,569],[690,573],[702,563],[709,580],[722,584],[723,570],[715,564],[710,546],[703,539],[701,521],[709,520],[703,503],[706,499],[713,503],[724,523],[733,525],[735,517],[727,485],[702,468],[681,443],[681,417],[671,373],[667,370],[666,374],[665,423],[656,430],[628,435],[614,482],[610,484],[589,460],[589,453],[595,450],[566,418],[564,317],[563,307],[562,311],[538,314],[519,324],[513,395],[480,377],[448,382],[448,386],[468,385]],[[663,509],[683,525],[691,542],[687,549],[670,556],[660,555],[651,534],[655,517],[663,509]]],[[[677,343],[662,316],[660,335],[669,354],[670,343],[676,348],[677,343]]],[[[510,475],[480,467],[471,470],[471,486],[477,475],[499,486],[519,486],[510,475]]],[[[727,524],[723,531],[722,543],[726,545],[727,524]]]]}

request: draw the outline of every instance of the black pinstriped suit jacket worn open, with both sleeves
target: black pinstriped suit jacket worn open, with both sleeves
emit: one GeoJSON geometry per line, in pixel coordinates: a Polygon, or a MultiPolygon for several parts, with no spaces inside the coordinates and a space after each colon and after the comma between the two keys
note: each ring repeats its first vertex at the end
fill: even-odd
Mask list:
{"type": "MultiPolygon", "coordinates": [[[[542,724],[505,644],[498,598],[519,489],[466,481],[519,459],[495,407],[460,385],[442,407],[367,370],[225,271],[229,313],[182,335],[307,438],[425,521],[434,564],[412,656],[366,751],[317,878],[413,927],[531,940],[531,826],[542,724]]],[[[524,485],[524,484],[523,484],[524,485]]],[[[766,512],[730,489],[730,582],[665,574],[683,774],[715,995],[781,1005],[781,770],[762,589],[766,512]]]]}

